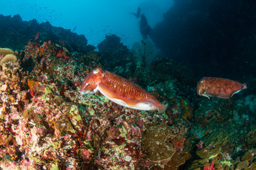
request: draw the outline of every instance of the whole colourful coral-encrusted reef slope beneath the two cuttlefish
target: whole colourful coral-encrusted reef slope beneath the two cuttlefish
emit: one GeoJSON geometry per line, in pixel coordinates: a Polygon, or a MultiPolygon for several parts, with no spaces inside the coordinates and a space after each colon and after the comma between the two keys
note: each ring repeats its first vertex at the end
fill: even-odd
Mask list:
{"type": "Polygon", "coordinates": [[[114,58],[122,57],[120,49],[107,48],[120,43],[112,36],[99,52],[86,54],[51,40],[9,51],[16,61],[0,66],[0,169],[256,168],[255,96],[200,98],[195,80],[187,80],[189,69],[167,58],[155,57],[152,66],[137,61],[122,72],[169,103],[165,113],[125,108],[101,94],[82,96],[92,69],[113,66],[109,71],[121,73],[127,64],[104,61],[115,50],[114,58]]]}

